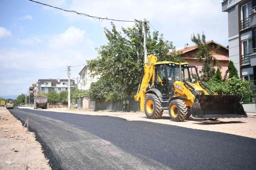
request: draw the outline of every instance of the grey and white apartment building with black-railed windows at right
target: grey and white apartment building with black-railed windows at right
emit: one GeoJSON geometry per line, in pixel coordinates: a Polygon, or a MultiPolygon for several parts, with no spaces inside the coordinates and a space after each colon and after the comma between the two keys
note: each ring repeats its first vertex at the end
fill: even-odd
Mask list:
{"type": "Polygon", "coordinates": [[[229,59],[238,75],[256,80],[256,0],[223,0],[222,11],[228,13],[229,59]]]}

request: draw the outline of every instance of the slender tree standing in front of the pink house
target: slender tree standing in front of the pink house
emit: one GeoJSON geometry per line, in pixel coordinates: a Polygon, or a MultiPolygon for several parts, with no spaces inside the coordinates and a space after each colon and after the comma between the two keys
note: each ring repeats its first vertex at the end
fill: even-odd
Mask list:
{"type": "MultiPolygon", "coordinates": [[[[220,46],[211,46],[206,42],[206,36],[202,33],[202,36],[198,33],[197,36],[193,33],[191,35],[191,41],[195,43],[198,47],[198,52],[193,56],[196,58],[196,62],[202,63],[203,67],[199,70],[201,74],[202,81],[208,81],[215,75],[215,66],[219,65],[217,59],[213,56],[213,52],[211,52],[211,48],[215,48],[213,51],[218,53],[218,49],[220,46]]],[[[221,67],[220,67],[221,68],[221,67]]]]}

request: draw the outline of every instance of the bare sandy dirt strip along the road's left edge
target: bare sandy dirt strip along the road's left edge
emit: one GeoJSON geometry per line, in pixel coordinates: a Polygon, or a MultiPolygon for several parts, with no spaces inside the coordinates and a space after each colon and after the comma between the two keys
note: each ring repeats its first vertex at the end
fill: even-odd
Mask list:
{"type": "Polygon", "coordinates": [[[5,107],[0,107],[0,153],[1,170],[25,169],[27,165],[31,170],[51,169],[35,134],[27,132],[5,107]]]}

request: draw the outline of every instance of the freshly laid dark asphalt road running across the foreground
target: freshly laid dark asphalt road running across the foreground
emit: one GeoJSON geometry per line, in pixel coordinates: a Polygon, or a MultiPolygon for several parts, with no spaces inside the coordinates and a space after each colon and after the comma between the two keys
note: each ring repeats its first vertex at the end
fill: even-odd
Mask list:
{"type": "Polygon", "coordinates": [[[10,111],[23,121],[29,118],[30,130],[53,169],[256,167],[256,139],[252,138],[116,117],[10,111]]]}

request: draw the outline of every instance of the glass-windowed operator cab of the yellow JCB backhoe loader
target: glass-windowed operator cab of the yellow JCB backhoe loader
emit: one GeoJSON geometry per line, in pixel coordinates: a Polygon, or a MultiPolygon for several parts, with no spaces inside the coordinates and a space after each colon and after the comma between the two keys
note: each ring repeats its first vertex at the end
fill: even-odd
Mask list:
{"type": "Polygon", "coordinates": [[[154,86],[160,90],[163,97],[173,96],[173,83],[175,81],[196,83],[200,80],[196,66],[190,66],[187,63],[181,63],[181,78],[177,63],[157,64],[154,75],[154,86]]]}

